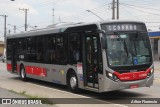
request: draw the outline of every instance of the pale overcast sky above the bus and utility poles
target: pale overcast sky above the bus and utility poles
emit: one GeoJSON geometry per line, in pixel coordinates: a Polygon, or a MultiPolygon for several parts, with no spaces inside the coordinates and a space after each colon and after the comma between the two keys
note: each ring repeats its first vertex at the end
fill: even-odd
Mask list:
{"type": "MultiPolygon", "coordinates": [[[[146,23],[147,28],[160,28],[160,0],[119,0],[120,20],[138,20],[146,23]]],[[[91,10],[104,20],[112,19],[112,0],[0,0],[0,15],[8,15],[7,32],[24,31],[24,11],[29,9],[28,25],[45,27],[59,22],[93,22],[100,18],[86,10],[91,10]],[[54,8],[54,18],[53,18],[54,8]],[[10,25],[8,25],[10,24],[10,25]]],[[[28,27],[28,30],[33,28],[28,27]]],[[[3,40],[4,18],[0,17],[0,40],[3,40]]]]}

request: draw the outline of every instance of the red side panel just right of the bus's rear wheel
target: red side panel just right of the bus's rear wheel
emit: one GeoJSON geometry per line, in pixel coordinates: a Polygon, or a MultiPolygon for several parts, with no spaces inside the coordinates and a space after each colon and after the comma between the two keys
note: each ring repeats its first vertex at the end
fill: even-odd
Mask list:
{"type": "Polygon", "coordinates": [[[26,66],[26,73],[46,77],[46,69],[41,67],[26,66]]]}

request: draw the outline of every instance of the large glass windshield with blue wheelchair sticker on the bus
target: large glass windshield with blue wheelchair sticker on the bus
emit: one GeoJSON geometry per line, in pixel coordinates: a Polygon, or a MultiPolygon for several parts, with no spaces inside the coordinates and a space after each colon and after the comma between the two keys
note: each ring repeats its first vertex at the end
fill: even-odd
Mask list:
{"type": "Polygon", "coordinates": [[[106,35],[110,66],[132,66],[152,61],[147,32],[117,32],[106,35]]]}

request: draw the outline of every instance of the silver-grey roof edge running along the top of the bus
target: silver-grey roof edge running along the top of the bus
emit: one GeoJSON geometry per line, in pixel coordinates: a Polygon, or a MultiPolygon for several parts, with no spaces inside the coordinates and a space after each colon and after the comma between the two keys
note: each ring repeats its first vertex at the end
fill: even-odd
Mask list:
{"type": "Polygon", "coordinates": [[[65,32],[66,29],[71,27],[81,27],[81,26],[87,26],[87,25],[96,25],[99,28],[100,24],[111,24],[111,23],[140,23],[144,24],[140,21],[99,21],[99,22],[92,22],[92,23],[63,23],[63,24],[54,24],[49,25],[46,28],[37,29],[37,30],[30,30],[27,32],[17,33],[17,34],[11,34],[7,35],[7,38],[19,38],[19,37],[27,37],[27,36],[36,36],[36,35],[42,35],[42,34],[51,34],[51,33],[62,33],[65,32]]]}

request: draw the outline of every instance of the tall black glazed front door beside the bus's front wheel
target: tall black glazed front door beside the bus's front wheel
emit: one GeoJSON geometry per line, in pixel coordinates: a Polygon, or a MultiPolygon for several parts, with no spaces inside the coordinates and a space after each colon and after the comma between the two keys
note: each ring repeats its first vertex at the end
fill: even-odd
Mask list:
{"type": "Polygon", "coordinates": [[[84,40],[84,81],[85,86],[98,89],[98,37],[85,36],[84,40]]]}

